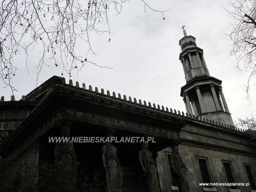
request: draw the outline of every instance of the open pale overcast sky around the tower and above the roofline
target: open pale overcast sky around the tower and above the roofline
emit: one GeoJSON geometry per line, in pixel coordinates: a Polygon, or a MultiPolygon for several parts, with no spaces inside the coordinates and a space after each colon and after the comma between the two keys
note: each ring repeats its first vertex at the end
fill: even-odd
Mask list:
{"type": "MultiPolygon", "coordinates": [[[[135,97],[137,100],[150,101],[160,106],[186,112],[180,87],[186,84],[185,75],[179,60],[179,40],[183,37],[182,25],[188,35],[196,37],[196,44],[204,50],[204,59],[210,75],[222,80],[222,89],[233,121],[238,123],[238,118],[255,117],[256,88],[251,88],[252,105],[243,100],[243,90],[247,75],[239,76],[232,68],[232,58],[228,58],[228,33],[231,21],[224,8],[228,7],[225,0],[146,0],[157,10],[172,8],[166,12],[163,20],[161,13],[146,9],[141,1],[131,0],[124,4],[121,14],[109,16],[112,26],[111,40],[108,35],[94,35],[91,44],[97,54],[87,56],[87,60],[108,66],[99,68],[87,64],[79,71],[79,75],[72,74],[71,79],[75,84],[79,82],[104,88],[112,92],[135,97]],[[252,116],[251,116],[252,114],[252,116]]],[[[81,46],[80,51],[86,55],[86,46],[81,46]]],[[[36,64],[39,58],[36,51],[29,52],[28,69],[24,66],[25,60],[19,55],[14,62],[18,69],[13,78],[13,84],[18,92],[16,100],[22,95],[27,95],[36,88],[36,64]]],[[[39,75],[39,85],[53,75],[61,76],[62,68],[55,67],[49,61],[50,67],[44,67],[39,75]]],[[[68,83],[68,75],[63,75],[68,83]]],[[[11,92],[2,88],[0,93],[5,100],[10,100],[11,92]]]]}

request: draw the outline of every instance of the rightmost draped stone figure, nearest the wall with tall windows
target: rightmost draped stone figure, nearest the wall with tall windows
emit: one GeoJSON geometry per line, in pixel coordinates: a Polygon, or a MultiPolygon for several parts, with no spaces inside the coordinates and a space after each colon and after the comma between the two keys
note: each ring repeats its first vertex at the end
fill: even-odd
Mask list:
{"type": "Polygon", "coordinates": [[[189,192],[186,166],[183,163],[182,157],[180,156],[178,151],[179,151],[179,149],[177,146],[172,148],[172,155],[171,155],[172,170],[176,174],[179,191],[180,192],[189,192]]]}

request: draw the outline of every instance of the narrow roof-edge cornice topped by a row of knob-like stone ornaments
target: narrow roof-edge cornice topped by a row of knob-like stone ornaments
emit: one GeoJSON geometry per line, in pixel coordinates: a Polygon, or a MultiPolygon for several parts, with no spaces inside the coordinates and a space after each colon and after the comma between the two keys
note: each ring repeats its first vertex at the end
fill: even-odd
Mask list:
{"type": "MultiPolygon", "coordinates": [[[[179,118],[179,121],[181,122],[186,122],[186,121],[196,121],[198,124],[208,124],[207,126],[210,126],[210,127],[215,127],[217,129],[224,129],[228,132],[230,131],[235,131],[235,132],[243,132],[243,130],[237,130],[234,126],[229,126],[227,124],[223,124],[223,123],[220,123],[220,122],[217,122],[217,121],[212,121],[211,119],[200,119],[199,117],[196,117],[194,115],[191,115],[191,114],[187,114],[186,113],[186,116],[184,114],[184,112],[181,112],[180,111],[176,111],[176,109],[174,109],[174,111],[172,110],[172,108],[170,108],[170,111],[169,109],[166,107],[164,108],[164,106],[162,106],[160,108],[159,105],[156,105],[153,103],[153,107],[151,105],[150,102],[147,102],[144,101],[143,104],[141,102],[141,100],[139,100],[139,102],[137,102],[137,99],[134,98],[134,101],[132,101],[131,97],[129,97],[129,99],[127,100],[127,97],[124,95],[123,99],[121,98],[121,94],[118,93],[118,97],[116,97],[116,93],[113,92],[113,95],[111,96],[109,91],[107,91],[107,94],[104,93],[104,90],[101,89],[101,92],[98,92],[98,88],[96,87],[95,90],[96,91],[92,91],[92,87],[91,85],[89,85],[89,89],[85,89],[85,85],[83,86],[83,88],[80,88],[80,87],[77,87],[77,86],[73,86],[73,85],[70,85],[70,84],[65,84],[63,83],[65,81],[64,78],[62,77],[57,77],[57,76],[53,76],[49,82],[46,81],[44,84],[40,85],[38,88],[36,88],[36,90],[30,92],[26,98],[28,98],[28,100],[30,100],[29,98],[37,98],[37,101],[35,101],[34,99],[34,102],[33,102],[33,106],[36,105],[36,103],[39,103],[41,102],[42,100],[45,100],[46,98],[42,97],[40,98],[39,96],[42,95],[42,93],[39,93],[39,96],[37,95],[38,92],[40,91],[44,91],[42,88],[40,88],[41,86],[42,87],[48,87],[47,90],[49,89],[54,89],[55,91],[57,89],[61,90],[61,91],[64,91],[64,92],[68,92],[68,93],[71,93],[73,96],[82,96],[84,98],[90,98],[94,101],[100,101],[100,102],[103,102],[103,103],[108,103],[110,105],[116,105],[116,106],[119,106],[121,108],[128,108],[128,109],[132,109],[132,110],[136,110],[136,111],[140,111],[140,112],[143,112],[143,113],[148,113],[148,114],[152,114],[152,115],[156,115],[159,117],[163,117],[164,119],[165,118],[169,118],[169,119],[174,119],[174,120],[177,120],[177,118],[179,118]],[[52,79],[55,79],[54,81],[52,79]],[[49,88],[50,87],[50,88],[49,88]],[[59,88],[58,88],[59,87],[59,88]]],[[[46,97],[47,98],[51,98],[51,96],[53,96],[53,93],[50,92],[46,97]]],[[[27,100],[26,100],[27,101],[27,100]]],[[[21,101],[12,101],[12,102],[21,102],[21,101]]],[[[45,101],[44,101],[45,102],[45,101]]],[[[43,102],[43,103],[44,103],[43,102]]],[[[9,106],[8,104],[9,102],[8,101],[4,101],[4,102],[0,102],[0,105],[5,105],[5,106],[9,106]]],[[[11,103],[11,102],[10,102],[11,103]]],[[[22,103],[24,104],[25,102],[22,101],[22,103]]],[[[40,105],[37,105],[36,108],[39,108],[40,106],[43,105],[43,103],[41,103],[40,105]]],[[[33,114],[32,114],[33,115],[33,114]]],[[[32,116],[30,114],[30,116],[32,116]]],[[[247,133],[244,133],[247,135],[247,133]]]]}

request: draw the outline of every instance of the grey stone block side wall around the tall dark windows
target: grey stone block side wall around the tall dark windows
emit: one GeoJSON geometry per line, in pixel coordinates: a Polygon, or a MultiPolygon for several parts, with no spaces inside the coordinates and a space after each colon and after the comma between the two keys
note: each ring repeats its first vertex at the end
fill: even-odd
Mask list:
{"type": "MultiPolygon", "coordinates": [[[[255,147],[253,144],[248,143],[248,139],[250,138],[247,137],[247,133],[236,130],[231,131],[220,126],[205,126],[206,124],[203,124],[204,126],[196,126],[195,124],[188,123],[180,132],[182,142],[179,145],[179,151],[186,164],[190,191],[229,191],[228,186],[215,186],[209,189],[199,186],[199,183],[203,183],[204,181],[198,159],[204,159],[206,161],[212,183],[228,183],[224,162],[230,164],[234,182],[248,183],[249,179],[244,166],[250,166],[253,174],[256,170],[255,156],[253,155],[255,147]]],[[[169,178],[172,177],[172,170],[168,162],[168,156],[171,154],[171,148],[166,148],[158,154],[157,164],[159,170],[161,170],[159,176],[163,178],[160,182],[164,186],[162,192],[175,191],[172,189],[176,188],[172,179],[165,179],[165,175],[168,175],[169,178]]],[[[237,186],[236,190],[230,190],[254,191],[250,187],[245,186],[237,186]]]]}

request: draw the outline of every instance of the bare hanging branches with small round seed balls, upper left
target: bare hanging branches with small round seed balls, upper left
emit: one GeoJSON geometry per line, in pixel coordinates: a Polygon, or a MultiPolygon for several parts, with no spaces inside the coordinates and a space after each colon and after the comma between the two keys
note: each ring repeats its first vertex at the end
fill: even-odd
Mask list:
{"type": "MultiPolygon", "coordinates": [[[[27,65],[28,52],[35,47],[41,52],[37,78],[42,67],[50,65],[49,59],[70,76],[72,70],[78,72],[77,62],[81,64],[79,68],[85,62],[98,65],[87,60],[89,52],[94,54],[89,37],[92,32],[107,33],[110,41],[108,13],[115,10],[119,14],[127,1],[3,0],[0,7],[0,74],[5,85],[11,87],[12,92],[15,90],[11,79],[15,76],[17,64],[14,64],[13,59],[17,54],[25,54],[27,65]],[[88,45],[83,56],[77,54],[78,42],[88,45]]],[[[141,2],[145,10],[148,8],[163,15],[168,11],[154,10],[144,0],[141,2]]]]}

